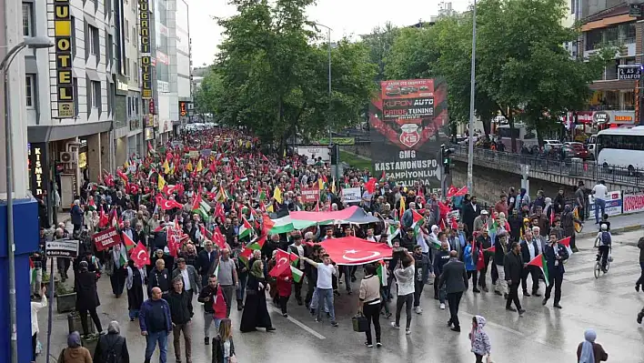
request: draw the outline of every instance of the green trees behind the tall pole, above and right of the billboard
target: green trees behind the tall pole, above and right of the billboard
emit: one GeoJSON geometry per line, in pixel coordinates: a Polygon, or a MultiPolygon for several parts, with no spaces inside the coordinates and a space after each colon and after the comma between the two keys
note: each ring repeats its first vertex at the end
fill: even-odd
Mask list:
{"type": "MultiPolygon", "coordinates": [[[[519,119],[540,135],[557,116],[589,99],[589,84],[615,51],[572,59],[562,45],[576,40],[579,29],[560,24],[566,11],[562,0],[478,2],[475,105],[486,134],[491,118],[500,114],[510,127],[519,119]]],[[[386,75],[445,77],[450,122],[467,122],[471,47],[470,12],[404,29],[394,42],[386,75]]],[[[516,149],[514,139],[512,147],[516,149]]]]}

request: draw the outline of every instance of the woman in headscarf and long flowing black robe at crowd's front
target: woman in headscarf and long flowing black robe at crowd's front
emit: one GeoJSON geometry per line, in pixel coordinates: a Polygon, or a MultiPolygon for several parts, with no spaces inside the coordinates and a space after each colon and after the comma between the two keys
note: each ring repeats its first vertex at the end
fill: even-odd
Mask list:
{"type": "Polygon", "coordinates": [[[266,328],[267,331],[275,330],[270,321],[267,309],[266,291],[270,290],[264,277],[264,263],[261,260],[253,262],[250,268],[246,288],[246,304],[241,319],[242,333],[255,331],[256,328],[266,328]]]}

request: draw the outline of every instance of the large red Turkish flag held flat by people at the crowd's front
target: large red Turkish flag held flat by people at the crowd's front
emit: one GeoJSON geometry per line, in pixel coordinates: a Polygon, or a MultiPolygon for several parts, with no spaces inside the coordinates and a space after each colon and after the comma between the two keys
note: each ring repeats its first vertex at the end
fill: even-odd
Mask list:
{"type": "Polygon", "coordinates": [[[385,243],[370,242],[358,237],[330,238],[322,243],[337,265],[363,265],[391,258],[393,249],[385,243]]]}

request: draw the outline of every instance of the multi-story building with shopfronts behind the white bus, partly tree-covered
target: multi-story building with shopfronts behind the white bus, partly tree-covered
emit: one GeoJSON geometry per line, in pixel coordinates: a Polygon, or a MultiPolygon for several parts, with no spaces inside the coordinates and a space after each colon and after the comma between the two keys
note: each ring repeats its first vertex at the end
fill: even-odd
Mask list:
{"type": "Polygon", "coordinates": [[[579,0],[571,9],[581,22],[577,54],[590,56],[603,46],[615,46],[615,58],[602,76],[590,85],[594,91],[587,109],[577,112],[578,127],[595,132],[605,127],[637,125],[636,81],[619,80],[619,66],[639,64],[642,23],[629,15],[629,5],[620,1],[579,0]],[[574,7],[577,6],[577,7],[574,7]]]}

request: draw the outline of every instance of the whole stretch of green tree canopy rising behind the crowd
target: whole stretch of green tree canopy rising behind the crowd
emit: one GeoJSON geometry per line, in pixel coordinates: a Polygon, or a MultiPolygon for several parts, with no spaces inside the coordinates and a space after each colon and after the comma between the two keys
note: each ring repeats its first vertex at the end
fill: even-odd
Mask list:
{"type": "MultiPolygon", "coordinates": [[[[361,121],[385,79],[445,78],[450,123],[469,118],[472,12],[424,27],[374,28],[357,42],[330,45],[307,19],[314,0],[230,0],[215,65],[196,92],[196,110],[245,126],[282,148],[361,121]],[[331,94],[327,51],[331,46],[331,94]]],[[[589,100],[615,49],[573,59],[564,44],[579,28],[560,19],[563,0],[480,0],[477,5],[476,114],[486,133],[494,116],[539,131],[589,100]]],[[[324,30],[324,29],[320,29],[324,30]]],[[[539,136],[540,138],[541,136],[539,136]]],[[[514,144],[514,143],[513,143],[514,144]]]]}

